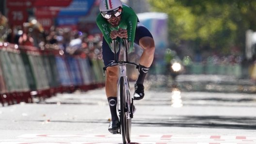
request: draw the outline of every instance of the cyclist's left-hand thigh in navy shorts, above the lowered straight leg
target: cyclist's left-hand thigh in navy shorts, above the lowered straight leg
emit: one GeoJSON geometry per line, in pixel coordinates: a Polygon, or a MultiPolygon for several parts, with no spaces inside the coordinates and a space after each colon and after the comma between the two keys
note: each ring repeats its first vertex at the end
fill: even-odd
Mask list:
{"type": "MultiPolygon", "coordinates": [[[[104,65],[107,66],[107,65],[113,63],[114,62],[114,53],[112,52],[109,44],[107,43],[107,41],[105,40],[104,37],[102,40],[101,50],[102,50],[102,58],[103,58],[104,65]]],[[[119,60],[119,53],[120,53],[120,50],[116,54],[117,60],[119,60]]]]}

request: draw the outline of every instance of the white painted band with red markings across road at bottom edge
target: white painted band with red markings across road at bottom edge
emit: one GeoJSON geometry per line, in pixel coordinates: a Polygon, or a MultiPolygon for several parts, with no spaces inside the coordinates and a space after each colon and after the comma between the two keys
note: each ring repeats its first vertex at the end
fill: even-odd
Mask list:
{"type": "MultiPolygon", "coordinates": [[[[231,135],[132,135],[130,144],[256,144],[256,137],[231,135]]],[[[121,144],[122,135],[23,134],[0,144],[121,144]]]]}

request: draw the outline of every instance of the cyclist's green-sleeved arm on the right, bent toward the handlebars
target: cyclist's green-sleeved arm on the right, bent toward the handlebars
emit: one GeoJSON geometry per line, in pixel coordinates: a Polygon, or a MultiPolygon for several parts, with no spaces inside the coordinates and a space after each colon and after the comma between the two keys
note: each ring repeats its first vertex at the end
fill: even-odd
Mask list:
{"type": "Polygon", "coordinates": [[[127,20],[127,33],[128,33],[128,41],[131,42],[129,47],[129,53],[132,51],[134,38],[135,38],[135,30],[137,27],[137,16],[131,16],[127,20]]]}

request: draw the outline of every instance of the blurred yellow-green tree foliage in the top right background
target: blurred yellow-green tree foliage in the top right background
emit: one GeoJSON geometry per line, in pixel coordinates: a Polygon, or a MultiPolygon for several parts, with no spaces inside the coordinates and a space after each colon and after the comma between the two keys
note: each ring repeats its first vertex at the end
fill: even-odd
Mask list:
{"type": "Polygon", "coordinates": [[[169,36],[176,45],[193,43],[194,49],[243,52],[245,31],[256,30],[255,0],[148,0],[152,10],[168,14],[169,36]]]}

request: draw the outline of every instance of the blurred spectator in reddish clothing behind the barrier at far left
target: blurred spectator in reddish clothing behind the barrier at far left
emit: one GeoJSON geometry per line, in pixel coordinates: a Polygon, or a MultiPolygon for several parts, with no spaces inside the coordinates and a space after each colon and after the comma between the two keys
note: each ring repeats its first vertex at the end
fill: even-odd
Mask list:
{"type": "Polygon", "coordinates": [[[23,23],[23,34],[19,37],[19,45],[34,46],[33,38],[31,37],[31,32],[29,23],[23,23]]]}

